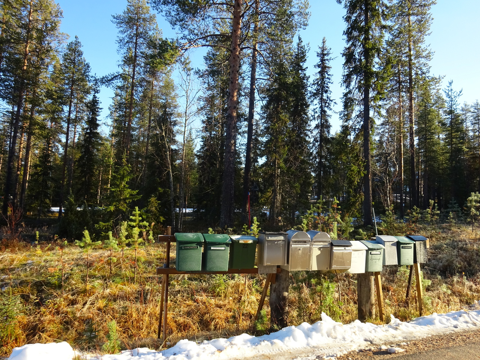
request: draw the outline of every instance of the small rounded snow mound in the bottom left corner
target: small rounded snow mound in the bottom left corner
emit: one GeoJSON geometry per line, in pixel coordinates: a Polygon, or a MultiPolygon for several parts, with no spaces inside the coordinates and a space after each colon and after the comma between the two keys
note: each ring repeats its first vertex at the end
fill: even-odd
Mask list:
{"type": "Polygon", "coordinates": [[[14,348],[8,360],[72,360],[75,356],[72,347],[61,343],[28,344],[14,348]]]}

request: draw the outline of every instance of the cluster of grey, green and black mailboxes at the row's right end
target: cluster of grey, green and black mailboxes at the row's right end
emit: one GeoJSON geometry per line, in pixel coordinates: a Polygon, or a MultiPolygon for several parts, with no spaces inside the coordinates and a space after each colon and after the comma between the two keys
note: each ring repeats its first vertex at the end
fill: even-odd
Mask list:
{"type": "Polygon", "coordinates": [[[375,242],[384,245],[384,265],[413,265],[427,262],[429,240],[420,235],[377,235],[375,242]]]}

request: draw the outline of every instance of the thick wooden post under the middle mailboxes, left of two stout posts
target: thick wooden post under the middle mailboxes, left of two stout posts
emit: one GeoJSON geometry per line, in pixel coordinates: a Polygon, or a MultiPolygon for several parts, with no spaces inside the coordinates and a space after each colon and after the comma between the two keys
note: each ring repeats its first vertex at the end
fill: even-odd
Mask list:
{"type": "Polygon", "coordinates": [[[270,326],[272,329],[288,326],[289,285],[290,272],[285,269],[276,274],[275,284],[270,285],[270,326]]]}

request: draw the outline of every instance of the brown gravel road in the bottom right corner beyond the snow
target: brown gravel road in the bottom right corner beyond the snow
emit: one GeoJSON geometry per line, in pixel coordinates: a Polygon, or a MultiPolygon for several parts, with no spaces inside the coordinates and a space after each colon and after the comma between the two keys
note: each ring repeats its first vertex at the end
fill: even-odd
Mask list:
{"type": "MultiPolygon", "coordinates": [[[[480,328],[447,335],[436,335],[414,340],[407,345],[395,345],[404,352],[390,354],[382,350],[350,352],[337,360],[476,360],[480,359],[480,328]]],[[[378,349],[380,345],[375,345],[378,349]]]]}

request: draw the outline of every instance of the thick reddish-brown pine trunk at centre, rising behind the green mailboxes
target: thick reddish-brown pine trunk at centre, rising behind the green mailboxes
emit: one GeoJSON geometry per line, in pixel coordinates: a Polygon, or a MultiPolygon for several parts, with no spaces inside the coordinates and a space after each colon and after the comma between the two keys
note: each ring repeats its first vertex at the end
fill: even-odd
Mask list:
{"type": "Polygon", "coordinates": [[[233,2],[230,81],[228,84],[228,112],[227,129],[225,133],[225,158],[222,184],[222,205],[220,209],[220,228],[231,226],[233,221],[233,189],[235,185],[235,143],[237,138],[242,1],[243,0],[234,0],[233,2]]]}

